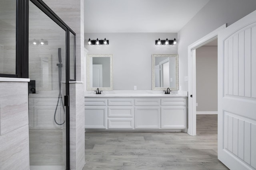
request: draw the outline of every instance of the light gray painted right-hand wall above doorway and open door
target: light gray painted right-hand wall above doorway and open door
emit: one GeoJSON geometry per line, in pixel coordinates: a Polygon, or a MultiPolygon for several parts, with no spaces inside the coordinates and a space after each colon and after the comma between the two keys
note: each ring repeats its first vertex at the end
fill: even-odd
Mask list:
{"type": "Polygon", "coordinates": [[[188,46],[221,25],[228,25],[256,10],[255,0],[210,0],[196,16],[194,16],[178,32],[179,85],[188,90],[188,46]]]}

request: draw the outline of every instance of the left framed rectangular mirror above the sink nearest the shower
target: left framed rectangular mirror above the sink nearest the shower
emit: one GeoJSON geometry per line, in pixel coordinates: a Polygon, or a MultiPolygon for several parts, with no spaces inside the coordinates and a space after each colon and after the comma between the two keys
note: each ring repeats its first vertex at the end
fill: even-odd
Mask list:
{"type": "Polygon", "coordinates": [[[113,55],[87,54],[87,90],[113,90],[113,55]]]}

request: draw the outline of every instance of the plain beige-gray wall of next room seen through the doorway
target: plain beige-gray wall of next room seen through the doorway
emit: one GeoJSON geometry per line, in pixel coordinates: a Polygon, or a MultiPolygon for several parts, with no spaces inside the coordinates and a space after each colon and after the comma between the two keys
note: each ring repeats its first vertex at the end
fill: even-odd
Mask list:
{"type": "Polygon", "coordinates": [[[218,47],[196,49],[196,111],[218,111],[218,47]]]}

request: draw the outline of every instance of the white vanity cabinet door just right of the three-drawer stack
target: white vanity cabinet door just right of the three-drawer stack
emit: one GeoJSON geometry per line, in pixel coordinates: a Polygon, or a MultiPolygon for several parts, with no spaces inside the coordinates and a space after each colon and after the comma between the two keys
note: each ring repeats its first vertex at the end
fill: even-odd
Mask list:
{"type": "Polygon", "coordinates": [[[159,107],[136,107],[135,129],[159,129],[160,108],[159,107]]]}

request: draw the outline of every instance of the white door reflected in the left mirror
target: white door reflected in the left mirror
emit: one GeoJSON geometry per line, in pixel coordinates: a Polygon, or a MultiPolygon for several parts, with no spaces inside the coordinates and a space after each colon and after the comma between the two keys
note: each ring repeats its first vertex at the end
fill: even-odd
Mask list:
{"type": "Polygon", "coordinates": [[[102,87],[102,64],[92,64],[92,87],[102,87]]]}

